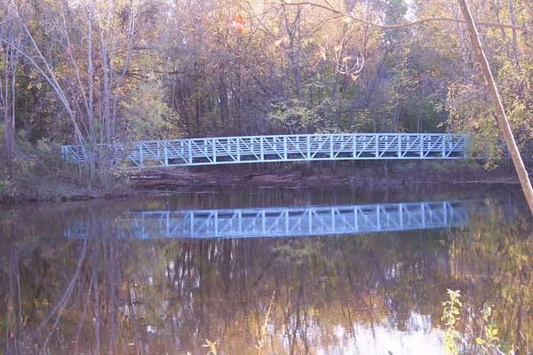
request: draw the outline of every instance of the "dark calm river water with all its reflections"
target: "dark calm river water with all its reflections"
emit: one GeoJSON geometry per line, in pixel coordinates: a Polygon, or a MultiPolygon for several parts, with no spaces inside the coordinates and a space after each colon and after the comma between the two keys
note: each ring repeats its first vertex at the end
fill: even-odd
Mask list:
{"type": "Polygon", "coordinates": [[[219,354],[439,354],[446,288],[465,314],[494,305],[498,336],[531,351],[533,224],[513,186],[28,206],[0,211],[0,235],[7,354],[205,354],[206,339],[219,354]]]}

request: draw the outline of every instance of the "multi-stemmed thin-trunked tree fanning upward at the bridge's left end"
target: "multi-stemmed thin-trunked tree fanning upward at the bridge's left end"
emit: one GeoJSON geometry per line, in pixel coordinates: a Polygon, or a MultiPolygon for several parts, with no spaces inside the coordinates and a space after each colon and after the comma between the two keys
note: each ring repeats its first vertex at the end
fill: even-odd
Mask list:
{"type": "Polygon", "coordinates": [[[149,23],[153,13],[140,1],[34,5],[31,20],[15,13],[29,43],[19,53],[51,85],[83,148],[91,177],[105,177],[110,149],[119,138],[118,103],[127,85],[131,53],[144,34],[138,22],[149,23]]]}

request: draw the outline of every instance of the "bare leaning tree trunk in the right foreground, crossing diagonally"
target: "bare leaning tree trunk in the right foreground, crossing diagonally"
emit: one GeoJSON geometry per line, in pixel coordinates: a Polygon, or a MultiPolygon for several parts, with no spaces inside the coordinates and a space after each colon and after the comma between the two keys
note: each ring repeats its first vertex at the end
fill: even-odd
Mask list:
{"type": "Polygon", "coordinates": [[[489,91],[490,100],[492,101],[497,122],[500,130],[502,130],[502,133],[504,134],[505,143],[507,144],[511,158],[513,159],[514,169],[516,169],[516,172],[518,173],[522,190],[526,196],[526,200],[528,201],[531,214],[533,214],[533,189],[531,188],[531,182],[529,181],[528,171],[524,167],[524,162],[522,162],[520,151],[516,145],[516,141],[514,140],[513,131],[511,130],[511,126],[507,120],[504,105],[502,104],[502,100],[497,91],[494,77],[490,72],[489,61],[487,60],[485,52],[481,47],[481,39],[478,35],[475,23],[473,22],[472,13],[470,12],[468,4],[466,4],[466,0],[458,1],[461,6],[461,11],[463,12],[463,17],[465,18],[466,27],[468,28],[470,37],[472,39],[474,58],[478,61],[481,67],[481,73],[483,74],[483,78],[485,79],[485,83],[487,85],[487,90],[489,91]]]}

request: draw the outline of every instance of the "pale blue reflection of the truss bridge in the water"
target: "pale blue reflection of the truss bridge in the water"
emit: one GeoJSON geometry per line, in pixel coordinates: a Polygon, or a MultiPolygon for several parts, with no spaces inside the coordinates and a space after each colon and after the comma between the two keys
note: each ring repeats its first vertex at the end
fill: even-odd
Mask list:
{"type": "MultiPolygon", "coordinates": [[[[340,206],[129,211],[115,218],[115,238],[255,238],[378,233],[466,225],[469,211],[484,201],[426,201],[340,206]]],[[[69,238],[91,235],[77,221],[69,238]]]]}

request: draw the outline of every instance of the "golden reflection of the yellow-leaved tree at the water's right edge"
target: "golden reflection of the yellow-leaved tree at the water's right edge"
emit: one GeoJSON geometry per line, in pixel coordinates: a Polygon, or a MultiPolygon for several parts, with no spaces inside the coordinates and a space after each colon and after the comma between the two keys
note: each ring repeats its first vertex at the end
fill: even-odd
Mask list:
{"type": "Polygon", "coordinates": [[[533,236],[530,219],[513,224],[500,209],[489,217],[470,217],[466,231],[454,233],[449,260],[465,309],[479,314],[494,304],[498,337],[527,354],[533,339],[533,236]]]}

